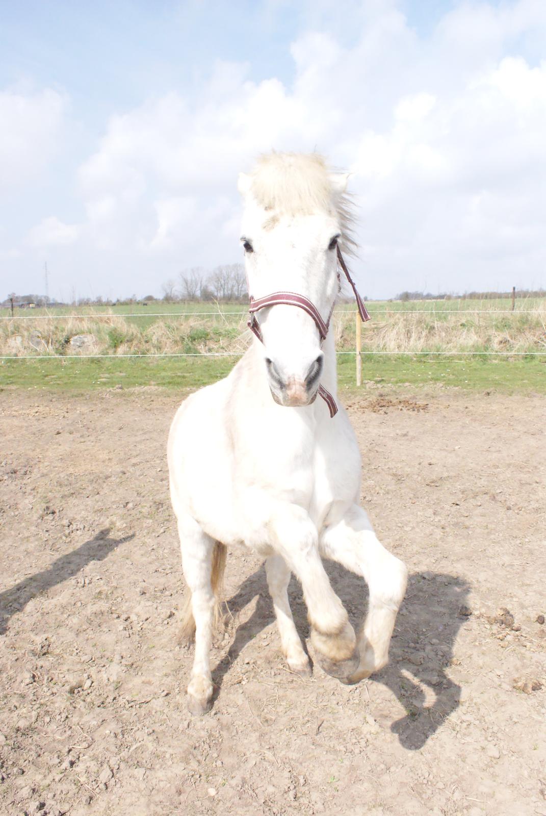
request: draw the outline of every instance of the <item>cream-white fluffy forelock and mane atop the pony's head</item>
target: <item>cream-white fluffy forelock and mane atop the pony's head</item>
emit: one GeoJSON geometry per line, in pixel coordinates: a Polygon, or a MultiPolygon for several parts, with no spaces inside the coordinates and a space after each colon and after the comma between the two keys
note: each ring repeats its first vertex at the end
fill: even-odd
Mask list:
{"type": "Polygon", "coordinates": [[[318,153],[267,153],[260,156],[251,172],[251,193],[270,212],[269,226],[279,215],[337,215],[345,251],[356,244],[351,234],[353,212],[347,193],[333,183],[335,171],[318,153]]]}

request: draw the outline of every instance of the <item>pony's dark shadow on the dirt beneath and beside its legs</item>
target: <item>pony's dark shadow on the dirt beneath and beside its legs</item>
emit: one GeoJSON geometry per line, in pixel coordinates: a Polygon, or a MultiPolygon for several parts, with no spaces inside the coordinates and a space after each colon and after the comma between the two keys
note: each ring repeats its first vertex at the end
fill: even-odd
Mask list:
{"type": "MultiPolygon", "coordinates": [[[[351,623],[358,628],[366,613],[366,583],[341,565],[326,562],[325,566],[351,623]]],[[[468,583],[455,575],[411,574],[406,598],[397,617],[388,666],[367,681],[386,685],[406,709],[406,716],[393,722],[391,730],[408,750],[423,747],[459,706],[460,686],[446,676],[445,668],[451,663],[457,633],[464,623],[459,610],[464,606],[468,591],[468,583]],[[431,704],[425,703],[425,686],[433,693],[431,704]]],[[[309,636],[307,610],[300,585],[294,578],[288,593],[296,628],[305,642],[309,636]]],[[[264,565],[251,574],[227,601],[233,619],[237,619],[237,614],[255,596],[258,596],[255,610],[245,623],[237,626],[228,653],[212,673],[215,698],[224,676],[246,644],[275,620],[264,565]]]]}

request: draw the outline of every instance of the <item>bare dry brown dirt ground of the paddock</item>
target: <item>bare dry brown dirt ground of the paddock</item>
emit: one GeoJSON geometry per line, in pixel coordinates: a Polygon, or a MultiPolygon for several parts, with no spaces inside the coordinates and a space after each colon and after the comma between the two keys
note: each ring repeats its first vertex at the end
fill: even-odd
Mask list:
{"type": "MultiPolygon", "coordinates": [[[[291,674],[263,567],[230,552],[202,719],[176,645],[179,401],[0,393],[0,812],[546,814],[544,398],[351,398],[362,502],[411,570],[391,662],[291,674]]],[[[362,580],[328,569],[357,621],[362,580]]]]}

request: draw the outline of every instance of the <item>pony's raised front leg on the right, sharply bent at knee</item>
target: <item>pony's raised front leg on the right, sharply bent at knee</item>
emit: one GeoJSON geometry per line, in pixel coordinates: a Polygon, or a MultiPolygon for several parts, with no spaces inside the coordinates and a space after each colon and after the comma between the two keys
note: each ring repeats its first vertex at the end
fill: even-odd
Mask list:
{"type": "Polygon", "coordinates": [[[326,526],[320,547],[324,557],[362,575],[370,590],[368,613],[357,641],[360,663],[348,677],[349,683],[356,683],[388,663],[388,646],[406,593],[406,565],[384,548],[366,512],[357,505],[343,519],[326,526]]]}

